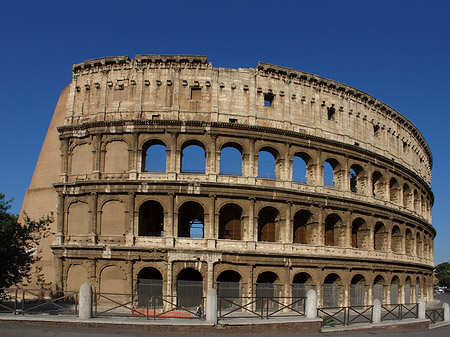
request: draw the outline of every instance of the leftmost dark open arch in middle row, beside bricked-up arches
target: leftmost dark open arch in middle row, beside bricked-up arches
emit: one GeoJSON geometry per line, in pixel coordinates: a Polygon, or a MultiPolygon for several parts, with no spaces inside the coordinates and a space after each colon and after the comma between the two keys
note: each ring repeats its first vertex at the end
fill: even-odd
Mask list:
{"type": "Polygon", "coordinates": [[[164,235],[164,210],[159,202],[146,201],[139,207],[138,235],[164,235]]]}

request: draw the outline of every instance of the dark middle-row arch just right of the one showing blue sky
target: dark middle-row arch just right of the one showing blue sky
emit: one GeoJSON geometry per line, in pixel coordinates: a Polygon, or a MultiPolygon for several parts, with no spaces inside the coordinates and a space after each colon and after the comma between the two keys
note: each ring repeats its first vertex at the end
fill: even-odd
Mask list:
{"type": "Polygon", "coordinates": [[[223,206],[219,212],[219,239],[241,240],[242,208],[235,204],[223,206]]]}

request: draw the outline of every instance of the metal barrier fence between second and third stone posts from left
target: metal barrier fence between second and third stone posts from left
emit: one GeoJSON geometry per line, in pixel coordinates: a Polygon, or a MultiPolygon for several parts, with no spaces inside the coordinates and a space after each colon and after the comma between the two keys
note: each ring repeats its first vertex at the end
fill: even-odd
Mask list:
{"type": "Polygon", "coordinates": [[[306,297],[219,297],[218,319],[305,315],[306,297]]]}

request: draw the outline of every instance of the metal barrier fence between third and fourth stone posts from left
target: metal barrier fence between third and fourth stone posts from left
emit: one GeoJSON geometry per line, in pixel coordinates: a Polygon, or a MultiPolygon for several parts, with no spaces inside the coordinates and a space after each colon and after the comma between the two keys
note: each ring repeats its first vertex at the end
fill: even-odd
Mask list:
{"type": "Polygon", "coordinates": [[[372,323],[373,305],[317,308],[317,316],[322,318],[322,326],[372,323]]]}

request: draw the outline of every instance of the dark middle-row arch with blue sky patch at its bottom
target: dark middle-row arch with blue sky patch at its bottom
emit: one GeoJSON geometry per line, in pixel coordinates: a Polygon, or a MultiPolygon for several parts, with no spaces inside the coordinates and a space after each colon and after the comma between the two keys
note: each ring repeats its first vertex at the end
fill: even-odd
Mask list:
{"type": "Polygon", "coordinates": [[[194,202],[184,203],[178,211],[178,237],[203,238],[203,207],[194,202]]]}

